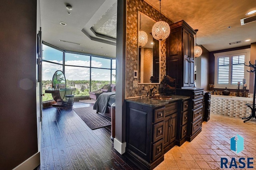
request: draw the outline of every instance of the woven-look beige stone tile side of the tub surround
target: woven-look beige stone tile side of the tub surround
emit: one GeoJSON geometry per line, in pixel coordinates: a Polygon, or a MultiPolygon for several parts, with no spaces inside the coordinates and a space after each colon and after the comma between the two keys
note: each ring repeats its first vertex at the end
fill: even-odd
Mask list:
{"type": "Polygon", "coordinates": [[[252,104],[252,100],[253,98],[211,95],[210,114],[219,114],[236,118],[248,117],[251,114],[251,109],[245,104],[252,104]]]}

